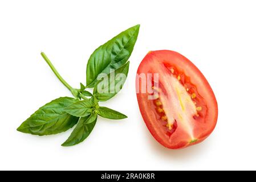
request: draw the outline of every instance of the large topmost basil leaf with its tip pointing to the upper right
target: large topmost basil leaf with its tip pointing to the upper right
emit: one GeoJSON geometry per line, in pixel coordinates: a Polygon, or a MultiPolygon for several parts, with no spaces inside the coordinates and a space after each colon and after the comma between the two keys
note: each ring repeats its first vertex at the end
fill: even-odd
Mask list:
{"type": "Polygon", "coordinates": [[[108,74],[110,69],[117,69],[127,63],[135,46],[139,29],[139,24],[128,28],[92,53],[86,69],[87,88],[95,86],[100,73],[108,74]]]}

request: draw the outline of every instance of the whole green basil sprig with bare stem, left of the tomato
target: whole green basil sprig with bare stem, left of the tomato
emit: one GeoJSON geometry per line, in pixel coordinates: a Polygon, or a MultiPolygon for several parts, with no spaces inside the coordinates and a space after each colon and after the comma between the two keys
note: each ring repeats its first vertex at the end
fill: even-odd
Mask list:
{"type": "Polygon", "coordinates": [[[140,25],[128,28],[92,53],[87,63],[86,86],[80,83],[80,89],[72,88],[41,52],[43,59],[74,98],[60,97],[40,107],[17,130],[41,136],[62,133],[76,125],[70,137],[62,144],[74,146],[91,134],[98,115],[108,119],[127,118],[118,111],[99,106],[99,101],[109,100],[123,87],[129,71],[128,59],[139,28],[140,25]],[[94,88],[94,92],[89,92],[87,88],[94,88]]]}

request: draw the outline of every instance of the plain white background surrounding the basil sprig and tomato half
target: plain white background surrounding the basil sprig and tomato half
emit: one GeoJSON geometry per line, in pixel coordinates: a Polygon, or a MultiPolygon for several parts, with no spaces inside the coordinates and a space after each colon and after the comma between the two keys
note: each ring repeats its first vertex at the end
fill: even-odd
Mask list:
{"type": "Polygon", "coordinates": [[[256,169],[255,1],[0,1],[0,169],[256,169]],[[103,105],[128,115],[99,118],[83,143],[61,147],[72,130],[38,137],[16,131],[38,107],[71,96],[40,57],[72,86],[86,81],[95,48],[141,24],[127,83],[103,105]],[[150,50],[170,49],[204,73],[218,101],[204,142],[169,150],[139,112],[135,76],[150,50]]]}

